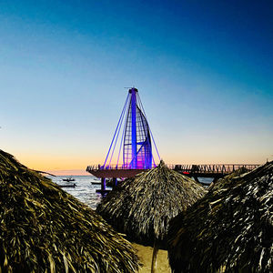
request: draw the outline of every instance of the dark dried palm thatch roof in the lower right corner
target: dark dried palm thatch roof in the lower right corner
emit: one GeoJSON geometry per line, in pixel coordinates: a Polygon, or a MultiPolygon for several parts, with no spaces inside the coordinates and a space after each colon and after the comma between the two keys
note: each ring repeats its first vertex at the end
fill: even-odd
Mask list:
{"type": "Polygon", "coordinates": [[[173,219],[173,272],[273,271],[273,162],[210,190],[173,219]]]}

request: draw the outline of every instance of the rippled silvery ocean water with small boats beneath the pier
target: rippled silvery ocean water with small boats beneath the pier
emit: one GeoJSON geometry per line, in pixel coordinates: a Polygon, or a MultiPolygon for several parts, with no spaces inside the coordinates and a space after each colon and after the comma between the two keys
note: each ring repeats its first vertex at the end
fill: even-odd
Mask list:
{"type": "MultiPolygon", "coordinates": [[[[96,193],[96,189],[100,188],[100,179],[94,176],[71,176],[75,179],[72,182],[63,181],[66,176],[59,177],[49,177],[53,182],[58,185],[73,185],[76,187],[63,187],[67,193],[79,199],[81,202],[85,203],[87,206],[96,209],[98,203],[101,201],[101,195],[96,193]]],[[[209,183],[211,178],[199,178],[200,182],[209,183]]],[[[111,187],[106,187],[106,189],[111,189],[111,187]]]]}

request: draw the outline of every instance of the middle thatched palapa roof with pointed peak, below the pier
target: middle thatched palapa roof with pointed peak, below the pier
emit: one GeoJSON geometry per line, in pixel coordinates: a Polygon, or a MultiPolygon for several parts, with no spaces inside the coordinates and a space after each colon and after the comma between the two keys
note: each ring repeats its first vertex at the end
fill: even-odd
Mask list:
{"type": "Polygon", "coordinates": [[[126,179],[110,192],[96,211],[113,227],[142,244],[167,238],[169,220],[203,197],[206,190],[194,180],[158,167],[126,179]]]}

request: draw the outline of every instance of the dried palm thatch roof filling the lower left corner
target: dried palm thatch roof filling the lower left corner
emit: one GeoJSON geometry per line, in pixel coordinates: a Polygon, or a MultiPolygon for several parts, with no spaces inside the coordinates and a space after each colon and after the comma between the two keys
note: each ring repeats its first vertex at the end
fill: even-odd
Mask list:
{"type": "Polygon", "coordinates": [[[0,272],[136,272],[135,250],[91,208],[0,150],[0,272]]]}

